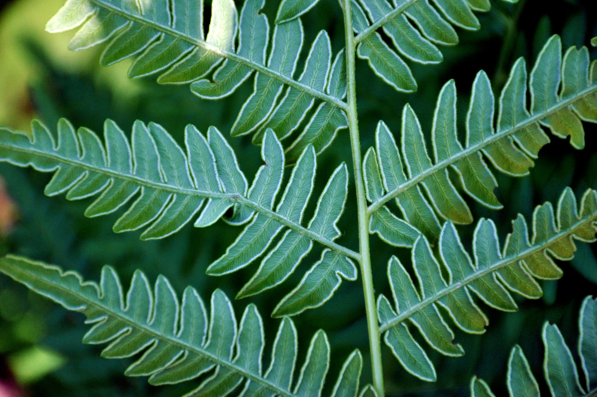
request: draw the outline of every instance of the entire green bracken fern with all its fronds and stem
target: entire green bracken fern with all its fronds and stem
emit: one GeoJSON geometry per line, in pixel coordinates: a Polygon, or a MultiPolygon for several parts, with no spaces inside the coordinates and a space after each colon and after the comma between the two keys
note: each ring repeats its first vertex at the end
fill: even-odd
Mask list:
{"type": "MultiPolygon", "coordinates": [[[[165,277],[159,276],[151,288],[140,270],[125,294],[112,267],[103,268],[97,284],[21,256],[0,259],[2,273],[68,310],[84,313],[91,329],[83,341],[109,343],[103,357],[142,353],[125,374],[148,376],[155,385],[198,383],[186,396],[318,397],[330,367],[327,335],[315,333],[295,373],[297,329],[290,317],[330,300],[343,280],[361,278],[373,384],[359,386],[363,360],[354,350],[331,395],[381,397],[386,393],[381,340],[406,371],[435,381],[425,344],[442,355],[464,354],[460,344],[453,343],[445,314],[461,331],[482,334],[488,317],[478,300],[505,312],[517,310],[512,292],[521,298],[541,297],[537,280],[556,280],[563,274],[553,259],[569,261],[575,240],[595,240],[595,190],[587,190],[578,201],[566,188],[555,212],[549,202],[537,206],[530,223],[519,215],[503,244],[496,224],[475,220],[467,204],[470,197],[488,209],[500,209],[491,168],[527,175],[551,136],[570,137],[574,148],[584,148],[583,121],[597,123],[597,61],[590,62],[586,47],[563,52],[559,36],[552,36],[530,72],[524,59],[516,60],[497,98],[487,74],[478,72],[460,137],[456,84],[448,81],[439,92],[430,132],[405,105],[399,135],[379,120],[375,145],[362,157],[355,57],[366,59],[395,90],[414,91],[417,82],[405,59],[442,62],[438,45],[457,44],[454,26],[479,29],[475,13],[491,5],[488,0],[343,0],[344,48],[333,53],[330,36],[321,31],[301,57],[301,17],[317,2],[282,0],[270,29],[261,13],[263,1],[246,0],[238,13],[232,0],[213,0],[207,34],[202,0],[67,0],[48,22],[50,32],[77,29],[71,50],[104,44],[102,65],[131,57],[129,77],[158,75],[158,83],[190,84],[190,90],[205,99],[235,93],[254,74],[253,93],[230,134],[251,134],[261,146],[263,165],[250,183],[216,127],[204,135],[189,124],[181,147],[156,123],[136,121],[127,138],[128,133],[107,120],[100,137],[85,127],[75,130],[66,119],[58,122],[56,133],[40,121],[32,122],[30,133],[0,128],[0,160],[52,172],[45,187],[48,196],[97,196],[86,216],[121,209],[113,225],[116,233],[142,230],[141,239],[146,240],[170,236],[191,222],[195,227],[219,220],[244,225],[207,267],[207,274],[223,276],[259,262],[237,298],[275,288],[295,271],[301,276],[273,310],[272,316],[282,319],[271,358],[264,361],[264,327],[257,307],[250,304],[237,324],[232,304],[220,290],[211,295],[208,311],[192,287],[179,299],[165,277]],[[304,65],[300,73],[299,63],[304,65]],[[317,156],[346,129],[357,211],[345,216],[357,225],[357,251],[336,241],[343,234],[337,222],[351,191],[349,167],[341,163],[332,172],[320,172],[327,184],[312,198],[317,156]],[[398,212],[390,201],[396,202],[398,212]],[[315,210],[306,221],[310,202],[315,210]],[[457,225],[472,223],[471,255],[457,225]],[[379,258],[387,266],[373,269],[371,234],[410,249],[410,264],[392,256],[379,258]],[[306,269],[299,267],[314,249],[320,259],[306,269]],[[374,292],[373,270],[384,268],[391,298],[374,292]],[[422,339],[413,335],[415,329],[422,339]]],[[[587,298],[580,314],[584,384],[558,328],[544,327],[544,368],[555,397],[595,395],[595,308],[595,300],[587,298]]],[[[507,387],[511,396],[538,395],[519,347],[510,356],[507,387]]],[[[473,396],[493,395],[487,383],[476,378],[470,388],[473,396]]]]}

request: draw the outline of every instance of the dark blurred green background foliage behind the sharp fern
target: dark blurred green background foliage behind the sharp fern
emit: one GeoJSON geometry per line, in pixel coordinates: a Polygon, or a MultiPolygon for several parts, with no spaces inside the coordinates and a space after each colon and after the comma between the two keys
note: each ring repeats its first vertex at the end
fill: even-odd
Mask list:
{"type": "MultiPolygon", "coordinates": [[[[479,32],[459,30],[460,44],[441,48],[445,61],[436,66],[413,65],[419,83],[414,94],[399,94],[376,78],[364,62],[358,62],[358,108],[361,142],[366,149],[373,144],[378,120],[384,120],[394,133],[399,131],[398,115],[410,102],[426,132],[430,130],[433,108],[439,89],[454,78],[458,87],[458,112],[461,124],[468,105],[470,85],[479,69],[484,69],[498,92],[512,63],[524,56],[529,63],[553,33],[562,36],[564,48],[586,45],[597,36],[595,1],[519,0],[509,5],[492,0],[489,13],[479,15],[479,32]]],[[[275,15],[277,2],[266,5],[275,15]]],[[[252,80],[233,96],[208,102],[193,96],[187,85],[160,86],[154,78],[128,80],[125,61],[108,68],[99,66],[101,48],[72,53],[66,44],[72,33],[50,35],[45,22],[63,0],[15,0],[0,9],[0,125],[29,130],[32,118],[55,126],[66,117],[75,127],[101,131],[106,118],[115,120],[130,132],[134,120],[162,124],[180,142],[184,126],[195,124],[202,132],[210,125],[229,132],[242,102],[252,89],[252,80]]],[[[307,41],[319,29],[327,29],[335,51],[343,41],[341,16],[335,1],[322,1],[306,15],[307,41]]],[[[101,47],[101,46],[100,46],[101,47]]],[[[306,52],[306,49],[303,49],[306,52]]],[[[592,58],[597,52],[592,50],[592,58]]],[[[530,69],[530,67],[528,68],[530,69]]],[[[498,198],[505,209],[491,211],[469,200],[475,218],[494,219],[503,239],[511,230],[516,213],[528,217],[534,206],[546,200],[555,202],[565,186],[580,197],[587,187],[597,188],[597,128],[585,124],[586,149],[574,151],[558,138],[540,152],[535,169],[526,178],[498,175],[498,198]]],[[[259,148],[250,138],[230,140],[239,155],[242,169],[251,176],[260,165],[259,148]]],[[[318,187],[321,191],[329,170],[340,161],[350,164],[347,134],[341,133],[330,149],[319,157],[318,187]]],[[[352,169],[349,167],[349,169],[352,169]]],[[[234,296],[254,271],[250,267],[232,276],[205,276],[207,265],[218,258],[235,239],[239,228],[219,222],[208,230],[190,225],[167,239],[141,242],[138,233],[115,234],[112,224],[118,213],[87,219],[82,214],[90,201],[69,202],[63,197],[49,198],[42,192],[50,176],[0,164],[0,251],[27,255],[79,271],[85,279],[97,280],[103,264],[112,264],[125,283],[136,268],[150,279],[167,276],[178,291],[193,285],[208,299],[219,286],[234,296]]],[[[311,209],[312,210],[312,209],[311,209]]],[[[356,230],[350,214],[355,203],[349,196],[340,221],[344,235],[341,243],[356,249],[356,230]]],[[[307,212],[309,209],[307,209],[307,212]]],[[[470,249],[473,227],[460,228],[464,244],[470,249]]],[[[372,237],[375,285],[387,293],[385,266],[390,255],[408,262],[408,251],[390,248],[372,237]]],[[[519,301],[520,312],[504,314],[488,309],[490,326],[481,336],[457,334],[466,355],[446,358],[430,349],[427,352],[438,368],[438,382],[424,383],[406,374],[392,355],[384,350],[384,371],[389,395],[466,396],[473,374],[489,381],[494,390],[506,394],[504,373],[507,355],[515,343],[521,344],[534,372],[541,374],[540,328],[545,320],[556,322],[570,346],[576,344],[577,312],[580,301],[597,292],[597,249],[578,245],[574,261],[562,264],[565,276],[559,282],[543,283],[545,295],[536,301],[519,301]]],[[[316,260],[312,255],[303,267],[316,260]]],[[[236,313],[248,303],[256,303],[264,316],[266,338],[271,346],[277,320],[269,319],[275,303],[300,280],[297,271],[287,282],[244,301],[235,303],[236,313]]],[[[32,294],[7,277],[0,277],[0,396],[2,387],[12,387],[15,396],[176,396],[181,387],[152,387],[144,378],[123,375],[126,360],[99,357],[100,347],[81,344],[86,330],[84,318],[67,313],[50,301],[32,294]],[[4,385],[4,386],[2,386],[4,385]]],[[[313,332],[323,326],[332,345],[331,376],[336,377],[347,354],[359,348],[368,353],[361,283],[344,282],[336,296],[323,307],[296,317],[304,349],[313,332]],[[350,302],[350,304],[346,304],[350,302]]],[[[266,358],[269,353],[266,352],[266,358]]],[[[366,360],[367,361],[367,360],[366,360]]],[[[365,362],[363,383],[370,381],[365,362]]],[[[331,378],[330,378],[331,379],[331,378]]],[[[328,383],[332,383],[331,381],[328,383]]],[[[327,384],[331,390],[333,384],[327,384]]],[[[544,385],[541,387],[546,392],[544,385]]]]}

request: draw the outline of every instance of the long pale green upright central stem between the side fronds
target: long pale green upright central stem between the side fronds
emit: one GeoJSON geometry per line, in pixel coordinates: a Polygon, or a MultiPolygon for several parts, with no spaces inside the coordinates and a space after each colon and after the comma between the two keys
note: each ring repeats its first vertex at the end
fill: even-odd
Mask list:
{"type": "Polygon", "coordinates": [[[356,204],[359,216],[359,253],[361,254],[361,277],[365,295],[365,310],[367,312],[367,331],[371,352],[371,369],[373,371],[373,387],[378,397],[385,395],[383,387],[383,368],[381,367],[381,343],[377,318],[377,307],[371,274],[371,255],[369,252],[369,215],[367,212],[367,197],[361,169],[361,142],[359,142],[359,126],[356,113],[356,78],[355,78],[355,36],[352,31],[352,13],[350,0],[343,0],[344,35],[346,36],[346,75],[347,75],[347,117],[350,129],[350,149],[352,150],[352,164],[355,170],[356,204]]]}

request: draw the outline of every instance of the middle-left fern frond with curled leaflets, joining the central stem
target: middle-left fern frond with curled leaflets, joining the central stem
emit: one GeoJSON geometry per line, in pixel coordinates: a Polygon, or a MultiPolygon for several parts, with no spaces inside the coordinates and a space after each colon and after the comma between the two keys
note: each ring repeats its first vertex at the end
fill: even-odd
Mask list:
{"type": "Polygon", "coordinates": [[[141,239],[169,236],[193,218],[195,227],[206,227],[232,207],[233,214],[223,218],[225,221],[250,223],[207,272],[231,273],[265,255],[255,276],[241,290],[241,297],[283,282],[311,251],[313,242],[321,243],[325,247],[321,260],[284,299],[276,315],[319,306],[331,297],[342,279],[356,279],[352,259],[359,260],[359,255],[334,242],[341,235],[336,222],[346,201],[346,164],[334,171],[318,198],[315,214],[304,227],[303,213],[313,193],[316,173],[313,146],[308,145],[301,154],[274,209],[284,178],[284,152],[272,130],[265,133],[261,146],[264,165],[251,187],[232,148],[215,127],[210,127],[205,139],[189,125],[184,140],[186,154],[158,124],[145,126],[136,121],[131,149],[122,130],[107,120],[104,146],[95,133],[85,128],[75,133],[72,125],[62,119],[56,143],[53,134],[34,121],[31,138],[0,129],[0,160],[55,172],[45,188],[48,196],[66,193],[69,200],[78,200],[99,194],[85,211],[87,216],[114,212],[136,196],[113,229],[122,232],[144,228],[141,239]],[[279,234],[283,236],[270,249],[279,234]],[[298,298],[310,289],[317,293],[298,298]]]}

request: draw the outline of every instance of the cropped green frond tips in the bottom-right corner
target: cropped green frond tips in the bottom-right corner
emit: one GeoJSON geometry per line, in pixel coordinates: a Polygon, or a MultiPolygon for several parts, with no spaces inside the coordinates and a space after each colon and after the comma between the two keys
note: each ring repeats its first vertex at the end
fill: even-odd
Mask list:
{"type": "MultiPolygon", "coordinates": [[[[578,355],[584,373],[584,384],[570,348],[562,338],[557,325],[545,323],[541,340],[545,349],[544,376],[554,397],[586,396],[597,393],[597,300],[586,297],[578,318],[578,355]]],[[[531,372],[527,358],[520,346],[510,352],[506,386],[510,397],[538,397],[539,385],[531,372]]],[[[472,397],[494,396],[485,381],[473,378],[470,382],[472,397]]]]}

